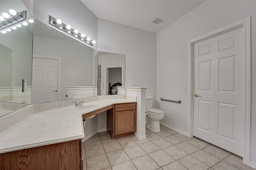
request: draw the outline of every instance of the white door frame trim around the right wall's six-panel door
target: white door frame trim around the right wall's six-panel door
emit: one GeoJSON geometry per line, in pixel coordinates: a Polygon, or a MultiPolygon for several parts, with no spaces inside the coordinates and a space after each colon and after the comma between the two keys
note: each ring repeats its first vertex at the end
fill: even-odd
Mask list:
{"type": "Polygon", "coordinates": [[[188,129],[187,135],[193,136],[194,123],[194,44],[220,34],[244,27],[246,55],[246,120],[243,162],[250,164],[250,123],[251,123],[251,17],[244,18],[195,39],[188,41],[188,129]]]}

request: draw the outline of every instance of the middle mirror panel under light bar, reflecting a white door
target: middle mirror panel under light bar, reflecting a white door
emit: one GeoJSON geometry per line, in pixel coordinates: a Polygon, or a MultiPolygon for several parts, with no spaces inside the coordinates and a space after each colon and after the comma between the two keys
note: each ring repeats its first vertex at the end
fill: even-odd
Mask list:
{"type": "Polygon", "coordinates": [[[32,104],[97,96],[98,51],[35,20],[32,104]]]}

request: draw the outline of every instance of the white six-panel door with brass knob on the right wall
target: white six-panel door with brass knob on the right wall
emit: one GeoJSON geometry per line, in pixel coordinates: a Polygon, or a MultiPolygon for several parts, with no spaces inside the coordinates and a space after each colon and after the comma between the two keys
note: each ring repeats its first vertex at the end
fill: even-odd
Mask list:
{"type": "Polygon", "coordinates": [[[243,27],[194,44],[194,136],[244,156],[243,27]]]}

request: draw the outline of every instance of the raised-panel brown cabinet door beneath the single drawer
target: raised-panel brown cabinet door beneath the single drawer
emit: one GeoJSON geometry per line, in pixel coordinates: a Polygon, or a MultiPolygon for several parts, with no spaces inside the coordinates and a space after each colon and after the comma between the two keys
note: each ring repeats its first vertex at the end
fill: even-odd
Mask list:
{"type": "Polygon", "coordinates": [[[136,111],[122,111],[115,113],[115,134],[136,131],[136,111]]]}

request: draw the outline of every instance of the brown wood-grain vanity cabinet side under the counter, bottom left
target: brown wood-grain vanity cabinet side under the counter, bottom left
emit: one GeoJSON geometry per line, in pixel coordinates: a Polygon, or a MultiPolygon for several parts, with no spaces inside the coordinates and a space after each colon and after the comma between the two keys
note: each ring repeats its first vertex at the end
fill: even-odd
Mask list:
{"type": "Polygon", "coordinates": [[[0,154],[1,170],[83,170],[81,139],[0,154]]]}

